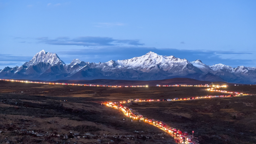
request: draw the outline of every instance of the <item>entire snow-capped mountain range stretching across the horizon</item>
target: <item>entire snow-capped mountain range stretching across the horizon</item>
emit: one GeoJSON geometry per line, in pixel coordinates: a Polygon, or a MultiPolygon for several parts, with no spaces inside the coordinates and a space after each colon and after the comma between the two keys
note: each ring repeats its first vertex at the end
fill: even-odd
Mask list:
{"type": "Polygon", "coordinates": [[[0,70],[2,79],[120,79],[161,80],[186,77],[206,81],[256,83],[256,67],[232,68],[224,64],[205,65],[202,61],[189,62],[174,56],[162,56],[154,52],[118,61],[100,63],[73,59],[65,64],[56,53],[37,53],[24,65],[0,70]]]}

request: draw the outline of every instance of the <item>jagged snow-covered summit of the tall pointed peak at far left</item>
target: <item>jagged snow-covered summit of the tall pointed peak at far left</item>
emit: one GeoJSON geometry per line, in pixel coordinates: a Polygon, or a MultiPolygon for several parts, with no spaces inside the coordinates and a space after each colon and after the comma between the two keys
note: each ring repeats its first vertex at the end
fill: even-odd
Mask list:
{"type": "Polygon", "coordinates": [[[44,62],[44,63],[49,63],[52,66],[56,64],[65,64],[59,56],[56,53],[51,53],[51,52],[45,52],[45,50],[41,50],[40,52],[36,53],[34,57],[29,61],[26,62],[24,65],[25,66],[30,66],[30,65],[37,65],[39,62],[44,62]]]}

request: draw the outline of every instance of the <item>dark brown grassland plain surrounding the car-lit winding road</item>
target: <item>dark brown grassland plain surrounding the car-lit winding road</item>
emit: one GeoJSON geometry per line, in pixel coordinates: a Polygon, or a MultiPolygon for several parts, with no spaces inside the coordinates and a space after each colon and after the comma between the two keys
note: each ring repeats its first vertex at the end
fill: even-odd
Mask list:
{"type": "MultiPolygon", "coordinates": [[[[256,143],[256,86],[223,89],[252,95],[141,102],[129,107],[182,131],[195,131],[200,144],[256,143]]],[[[222,93],[200,87],[107,88],[0,81],[0,143],[172,144],[173,138],[160,129],[131,122],[101,102],[204,95],[222,93]]]]}

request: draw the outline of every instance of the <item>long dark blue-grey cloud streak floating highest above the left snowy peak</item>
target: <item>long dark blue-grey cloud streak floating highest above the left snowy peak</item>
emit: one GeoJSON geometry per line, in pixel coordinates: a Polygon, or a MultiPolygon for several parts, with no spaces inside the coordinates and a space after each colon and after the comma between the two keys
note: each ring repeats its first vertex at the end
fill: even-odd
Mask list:
{"type": "Polygon", "coordinates": [[[70,39],[69,37],[57,37],[56,39],[48,39],[48,37],[40,37],[39,43],[48,45],[76,45],[76,46],[117,46],[117,45],[132,45],[141,46],[139,40],[118,40],[111,37],[77,37],[70,39]]]}

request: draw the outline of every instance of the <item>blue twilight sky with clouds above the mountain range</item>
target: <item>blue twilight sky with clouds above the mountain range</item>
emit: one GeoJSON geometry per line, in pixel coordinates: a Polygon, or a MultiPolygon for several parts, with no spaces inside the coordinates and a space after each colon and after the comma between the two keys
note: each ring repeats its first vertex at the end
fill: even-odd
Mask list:
{"type": "Polygon", "coordinates": [[[107,62],[149,51],[256,67],[255,0],[1,0],[0,69],[37,52],[107,62]]]}

